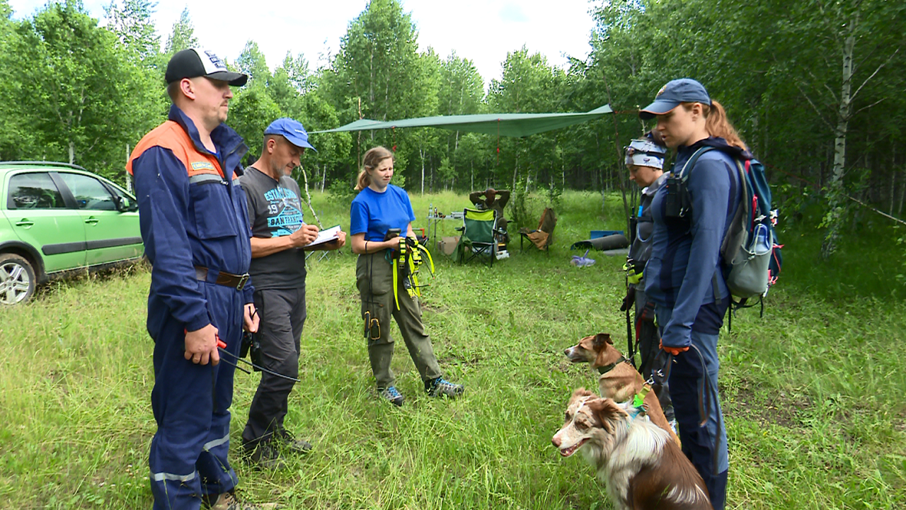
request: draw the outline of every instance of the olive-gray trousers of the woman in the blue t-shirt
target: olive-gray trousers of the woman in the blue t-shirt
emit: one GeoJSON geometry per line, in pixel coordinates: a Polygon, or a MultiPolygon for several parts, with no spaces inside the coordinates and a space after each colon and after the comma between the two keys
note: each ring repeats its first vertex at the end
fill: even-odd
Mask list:
{"type": "MultiPolygon", "coordinates": [[[[368,358],[371,360],[371,371],[379,389],[394,385],[393,370],[390,360],[393,358],[393,338],[390,338],[390,317],[400,327],[403,341],[419,370],[419,376],[427,381],[441,376],[438,358],[434,356],[431,339],[425,334],[421,323],[421,309],[416,298],[410,298],[406,289],[399,282],[398,299],[400,309],[396,308],[393,299],[393,267],[385,260],[386,250],[368,255],[359,255],[355,265],[355,280],[361,296],[362,319],[378,319],[380,335],[378,338],[366,338],[368,358]]],[[[359,331],[364,335],[365,324],[361,322],[359,331]]]]}

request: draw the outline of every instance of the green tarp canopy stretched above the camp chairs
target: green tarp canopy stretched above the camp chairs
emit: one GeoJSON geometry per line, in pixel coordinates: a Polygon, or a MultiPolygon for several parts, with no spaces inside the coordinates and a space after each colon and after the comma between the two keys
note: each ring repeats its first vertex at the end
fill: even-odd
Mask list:
{"type": "Polygon", "coordinates": [[[607,104],[585,113],[483,113],[480,115],[439,115],[401,121],[371,121],[361,119],[336,129],[315,132],[371,131],[410,127],[436,127],[449,131],[483,132],[502,136],[528,136],[577,123],[600,119],[612,113],[607,104]]]}

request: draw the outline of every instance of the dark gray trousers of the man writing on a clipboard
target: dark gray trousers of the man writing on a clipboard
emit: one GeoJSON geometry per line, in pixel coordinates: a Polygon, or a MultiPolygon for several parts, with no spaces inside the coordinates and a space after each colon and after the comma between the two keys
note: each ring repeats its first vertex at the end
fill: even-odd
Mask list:
{"type": "MultiPolygon", "coordinates": [[[[299,377],[299,338],[305,324],[305,286],[298,289],[255,290],[261,362],[264,368],[290,378],[299,377]]],[[[261,382],[248,408],[242,442],[254,447],[284,427],[294,381],[261,372],[261,382]]]]}

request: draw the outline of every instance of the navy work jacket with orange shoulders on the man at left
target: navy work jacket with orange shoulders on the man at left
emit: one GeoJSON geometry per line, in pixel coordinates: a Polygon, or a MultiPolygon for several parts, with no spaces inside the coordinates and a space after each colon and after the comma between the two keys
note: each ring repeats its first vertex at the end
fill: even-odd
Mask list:
{"type": "MultiPolygon", "coordinates": [[[[248,149],[241,136],[221,123],[211,132],[217,152],[208,151],[195,124],[176,105],[170,107],[169,120],[188,132],[198,152],[216,155],[224,172],[223,181],[190,183],[186,164],[159,145],[132,160],[141,238],[152,265],[149,315],[151,303],[162,301],[186,329],[195,331],[211,324],[195,266],[241,275],[252,260],[246,194],[232,183],[242,174],[241,159],[248,149]]],[[[246,284],[244,302],[252,302],[253,291],[246,284]]]]}

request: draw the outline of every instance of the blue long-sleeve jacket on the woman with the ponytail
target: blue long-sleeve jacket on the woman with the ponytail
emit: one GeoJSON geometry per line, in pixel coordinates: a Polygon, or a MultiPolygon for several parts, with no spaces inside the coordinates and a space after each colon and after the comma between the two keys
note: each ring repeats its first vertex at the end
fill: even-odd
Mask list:
{"type": "Polygon", "coordinates": [[[666,347],[689,346],[693,329],[717,334],[729,303],[720,245],[740,200],[734,158],[751,159],[751,154],[711,137],[679,147],[673,169],[679,172],[706,145],[718,150],[703,153],[687,171],[691,212],[685,218],[666,216],[667,186],[651,201],[654,231],[645,293],[655,304],[672,309],[670,321],[661,325],[666,347]]]}

